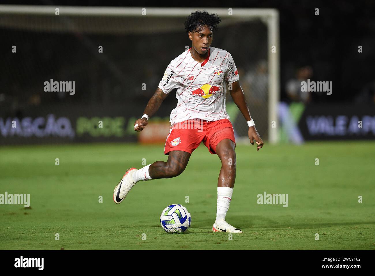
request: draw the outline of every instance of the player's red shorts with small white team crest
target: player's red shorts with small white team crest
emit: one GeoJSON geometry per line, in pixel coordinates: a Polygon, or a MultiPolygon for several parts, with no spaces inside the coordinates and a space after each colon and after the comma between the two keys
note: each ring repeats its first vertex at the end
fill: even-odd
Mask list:
{"type": "Polygon", "coordinates": [[[233,126],[229,119],[218,121],[189,119],[171,127],[166,137],[164,154],[168,155],[170,151],[186,151],[191,154],[201,142],[211,154],[216,154],[217,144],[226,138],[236,144],[233,126]]]}

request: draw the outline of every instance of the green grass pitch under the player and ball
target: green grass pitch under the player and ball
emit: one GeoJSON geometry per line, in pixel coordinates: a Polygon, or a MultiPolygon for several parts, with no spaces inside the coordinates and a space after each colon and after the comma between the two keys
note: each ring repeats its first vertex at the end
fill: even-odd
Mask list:
{"type": "Polygon", "coordinates": [[[0,205],[0,249],[375,249],[374,145],[266,145],[260,152],[237,145],[226,220],[244,233],[233,240],[211,232],[220,162],[204,145],[181,175],[139,182],[119,205],[113,189],[124,171],[142,167],[142,158],[166,161],[163,145],[3,146],[0,193],[29,193],[31,208],[0,205]],[[289,206],[258,205],[264,191],[288,194],[289,206]],[[186,234],[160,226],[160,213],[174,203],[192,215],[186,234]]]}

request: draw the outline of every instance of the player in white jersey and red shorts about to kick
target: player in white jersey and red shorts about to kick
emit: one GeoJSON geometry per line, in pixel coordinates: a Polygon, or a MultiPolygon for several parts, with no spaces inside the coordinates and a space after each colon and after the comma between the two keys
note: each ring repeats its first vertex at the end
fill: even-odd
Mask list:
{"type": "Polygon", "coordinates": [[[220,21],[216,14],[208,14],[206,11],[192,12],[187,17],[184,25],[192,46],[169,63],[155,94],[147,103],[144,115],[134,123],[134,130],[142,131],[169,92],[178,88],[178,103],[171,112],[171,129],[164,149],[168,160],[156,161],[141,169],[129,168],[115,187],[113,200],[117,204],[121,203],[139,181],[180,175],[192,152],[203,142],[211,154],[219,156],[222,164],[217,182],[216,220],[212,231],[242,233],[225,220],[236,179],[236,140],[225,109],[224,81],[231,84],[230,95],[248,122],[250,142],[254,145],[255,140],[257,151],[264,143],[251,118],[231,54],[211,47],[213,30],[217,30],[216,25],[220,21]]]}

